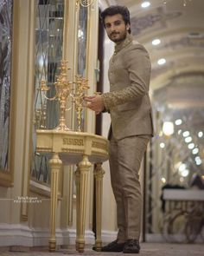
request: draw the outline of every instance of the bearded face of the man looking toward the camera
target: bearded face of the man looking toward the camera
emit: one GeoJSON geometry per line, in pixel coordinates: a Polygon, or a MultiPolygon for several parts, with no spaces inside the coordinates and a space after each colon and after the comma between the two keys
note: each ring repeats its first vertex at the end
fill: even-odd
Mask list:
{"type": "Polygon", "coordinates": [[[125,25],[121,14],[105,16],[105,30],[112,42],[119,43],[123,41],[129,29],[130,24],[125,25]]]}

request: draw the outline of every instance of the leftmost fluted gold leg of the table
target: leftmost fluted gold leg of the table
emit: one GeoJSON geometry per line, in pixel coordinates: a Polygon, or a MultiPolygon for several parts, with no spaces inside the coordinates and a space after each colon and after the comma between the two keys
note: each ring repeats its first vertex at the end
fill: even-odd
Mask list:
{"type": "Polygon", "coordinates": [[[61,170],[62,161],[58,154],[53,155],[49,161],[51,167],[51,214],[50,214],[50,238],[49,238],[49,251],[54,252],[56,248],[56,211],[57,211],[57,194],[58,194],[58,180],[59,172],[61,170]]]}

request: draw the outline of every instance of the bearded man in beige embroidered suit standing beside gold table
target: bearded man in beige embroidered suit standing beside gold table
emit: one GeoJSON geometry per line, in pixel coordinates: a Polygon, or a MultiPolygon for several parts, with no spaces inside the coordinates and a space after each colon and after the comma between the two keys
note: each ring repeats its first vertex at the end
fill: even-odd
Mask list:
{"type": "Polygon", "coordinates": [[[118,237],[103,252],[139,253],[142,198],[139,167],[153,134],[150,57],[131,36],[130,12],[110,6],[101,13],[107,36],[115,43],[108,71],[110,92],[86,97],[87,107],[108,111],[112,189],[117,203],[118,237]]]}

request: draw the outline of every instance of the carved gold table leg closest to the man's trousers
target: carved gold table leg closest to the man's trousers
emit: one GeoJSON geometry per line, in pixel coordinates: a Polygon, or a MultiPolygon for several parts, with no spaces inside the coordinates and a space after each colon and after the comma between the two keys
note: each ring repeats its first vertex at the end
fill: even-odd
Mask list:
{"type": "Polygon", "coordinates": [[[101,167],[102,163],[97,163],[94,170],[94,176],[96,181],[96,251],[101,251],[101,213],[102,213],[102,192],[103,192],[103,176],[105,171],[101,167]]]}

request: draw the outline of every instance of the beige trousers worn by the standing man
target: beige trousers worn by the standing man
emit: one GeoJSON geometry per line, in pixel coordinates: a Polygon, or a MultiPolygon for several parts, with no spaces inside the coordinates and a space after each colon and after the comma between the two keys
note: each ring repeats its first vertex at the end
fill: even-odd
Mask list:
{"type": "Polygon", "coordinates": [[[142,197],[139,167],[150,141],[149,135],[137,135],[110,141],[112,190],[117,203],[118,239],[139,240],[142,197]]]}

